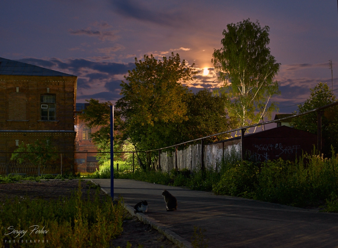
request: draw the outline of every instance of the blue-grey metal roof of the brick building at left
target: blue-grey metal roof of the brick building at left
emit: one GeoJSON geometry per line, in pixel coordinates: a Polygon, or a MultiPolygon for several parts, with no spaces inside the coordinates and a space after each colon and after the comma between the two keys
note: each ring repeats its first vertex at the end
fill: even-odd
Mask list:
{"type": "Polygon", "coordinates": [[[0,75],[75,77],[74,75],[63,72],[5,58],[0,58],[0,75]]]}

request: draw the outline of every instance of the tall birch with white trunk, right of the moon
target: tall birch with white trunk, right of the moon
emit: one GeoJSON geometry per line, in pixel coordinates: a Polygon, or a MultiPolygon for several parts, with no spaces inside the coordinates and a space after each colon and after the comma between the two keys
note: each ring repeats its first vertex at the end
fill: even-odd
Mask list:
{"type": "Polygon", "coordinates": [[[268,119],[277,110],[269,101],[280,94],[277,81],[273,81],[280,64],[270,54],[268,32],[268,26],[262,28],[250,19],[228,24],[221,40],[223,47],[213,53],[211,61],[224,82],[220,92],[226,97],[228,115],[238,120],[239,126],[249,121],[259,123],[262,106],[268,119]]]}

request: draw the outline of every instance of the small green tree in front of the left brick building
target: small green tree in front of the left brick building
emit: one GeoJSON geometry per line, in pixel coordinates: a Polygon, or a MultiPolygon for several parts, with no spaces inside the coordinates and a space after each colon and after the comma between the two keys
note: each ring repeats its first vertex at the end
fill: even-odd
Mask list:
{"type": "Polygon", "coordinates": [[[30,163],[38,165],[38,174],[40,175],[41,166],[44,170],[47,162],[51,163],[57,157],[56,147],[52,145],[51,138],[49,138],[46,140],[36,140],[33,144],[20,143],[18,148],[12,153],[10,160],[18,164],[30,163]]]}

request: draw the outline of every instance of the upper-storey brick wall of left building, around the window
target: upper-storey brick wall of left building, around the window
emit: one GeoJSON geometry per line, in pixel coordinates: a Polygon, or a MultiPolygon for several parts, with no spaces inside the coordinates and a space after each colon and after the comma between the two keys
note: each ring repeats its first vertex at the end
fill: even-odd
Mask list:
{"type": "Polygon", "coordinates": [[[0,75],[0,130],[74,130],[76,84],[75,76],[0,75]],[[47,93],[56,96],[55,121],[41,121],[40,95],[47,93]]]}

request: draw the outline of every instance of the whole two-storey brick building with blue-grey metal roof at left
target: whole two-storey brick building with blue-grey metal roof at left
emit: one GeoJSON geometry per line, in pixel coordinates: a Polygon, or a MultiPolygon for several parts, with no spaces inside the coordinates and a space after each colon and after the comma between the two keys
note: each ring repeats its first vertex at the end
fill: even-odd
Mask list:
{"type": "MultiPolygon", "coordinates": [[[[0,58],[0,174],[35,174],[10,162],[21,142],[50,140],[59,158],[44,173],[73,171],[77,77],[0,58]]],[[[34,165],[30,165],[33,166],[34,165]]]]}

